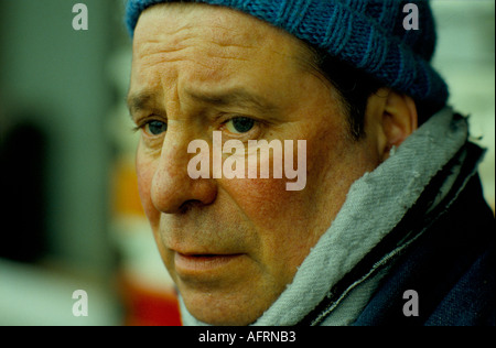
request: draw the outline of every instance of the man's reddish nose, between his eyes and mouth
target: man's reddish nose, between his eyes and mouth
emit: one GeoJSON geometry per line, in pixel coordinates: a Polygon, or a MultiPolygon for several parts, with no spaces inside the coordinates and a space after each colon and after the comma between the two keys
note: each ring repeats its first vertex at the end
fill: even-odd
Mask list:
{"type": "Polygon", "coordinates": [[[217,196],[215,180],[188,175],[187,164],[194,156],[187,153],[188,143],[187,137],[171,131],[165,135],[151,185],[151,199],[159,211],[180,214],[194,205],[209,205],[217,196]]]}

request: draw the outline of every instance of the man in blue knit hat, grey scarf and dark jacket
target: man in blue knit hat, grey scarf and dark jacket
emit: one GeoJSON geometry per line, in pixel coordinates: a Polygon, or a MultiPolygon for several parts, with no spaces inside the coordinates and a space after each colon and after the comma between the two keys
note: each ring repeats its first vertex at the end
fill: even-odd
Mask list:
{"type": "Polygon", "coordinates": [[[494,324],[483,151],[428,63],[429,6],[414,30],[400,1],[188,2],[127,7],[140,197],[183,323],[494,324]],[[225,175],[261,171],[261,140],[304,185],[276,160],[225,175]]]}

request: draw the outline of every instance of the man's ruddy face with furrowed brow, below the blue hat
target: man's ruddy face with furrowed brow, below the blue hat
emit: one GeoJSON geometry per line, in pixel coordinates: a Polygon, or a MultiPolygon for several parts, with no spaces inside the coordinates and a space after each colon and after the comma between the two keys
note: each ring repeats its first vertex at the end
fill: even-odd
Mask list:
{"type": "Polygon", "coordinates": [[[291,35],[226,8],[162,4],[139,20],[129,101],[142,129],[140,196],[161,257],[200,320],[246,325],[262,315],[352,183],[377,165],[370,142],[349,137],[336,91],[306,67],[304,52],[291,35]],[[192,180],[187,146],[204,140],[212,151],[214,131],[245,144],[305,140],[306,186],[192,180]]]}

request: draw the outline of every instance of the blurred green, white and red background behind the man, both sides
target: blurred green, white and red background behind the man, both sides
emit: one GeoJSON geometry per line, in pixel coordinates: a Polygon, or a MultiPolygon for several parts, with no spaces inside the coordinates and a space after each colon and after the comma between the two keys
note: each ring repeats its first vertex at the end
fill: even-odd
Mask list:
{"type": "MultiPolygon", "coordinates": [[[[488,149],[494,209],[495,2],[432,3],[434,65],[488,149]]],[[[137,193],[122,13],[122,0],[0,0],[0,325],[180,324],[137,193]],[[87,31],[72,26],[77,2],[87,31]]]]}

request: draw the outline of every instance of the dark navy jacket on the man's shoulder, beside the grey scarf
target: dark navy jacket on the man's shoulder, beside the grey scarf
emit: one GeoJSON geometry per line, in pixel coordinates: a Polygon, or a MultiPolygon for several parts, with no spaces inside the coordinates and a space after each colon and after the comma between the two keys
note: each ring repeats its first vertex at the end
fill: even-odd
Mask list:
{"type": "Polygon", "coordinates": [[[495,325],[495,219],[476,174],[483,151],[468,142],[461,151],[467,155],[443,200],[430,209],[450,171],[441,171],[432,180],[398,226],[331,290],[335,295],[325,298],[300,324],[319,324],[315,317],[349,284],[388,251],[410,240],[405,252],[390,263],[354,325],[495,325]],[[416,296],[405,296],[409,291],[416,296]],[[410,311],[410,305],[416,311],[410,311]]]}

